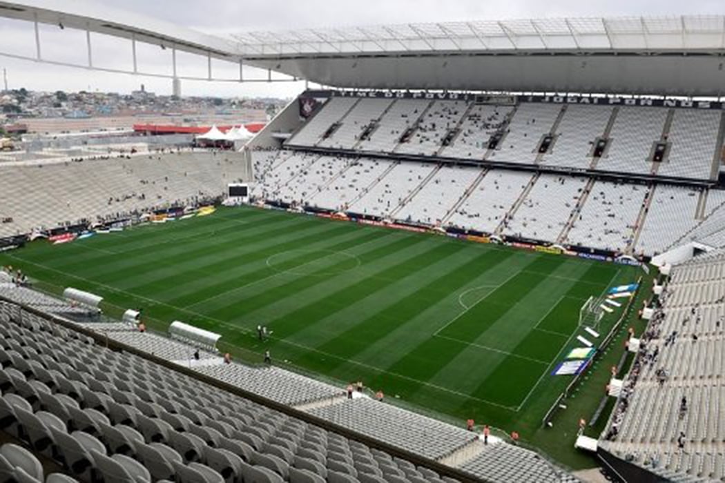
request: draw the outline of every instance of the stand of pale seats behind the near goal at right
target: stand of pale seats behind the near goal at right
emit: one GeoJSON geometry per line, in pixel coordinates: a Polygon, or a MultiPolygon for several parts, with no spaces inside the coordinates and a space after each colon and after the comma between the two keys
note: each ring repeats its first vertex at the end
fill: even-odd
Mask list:
{"type": "Polygon", "coordinates": [[[670,481],[721,481],[725,255],[673,266],[600,445],[670,481]]]}

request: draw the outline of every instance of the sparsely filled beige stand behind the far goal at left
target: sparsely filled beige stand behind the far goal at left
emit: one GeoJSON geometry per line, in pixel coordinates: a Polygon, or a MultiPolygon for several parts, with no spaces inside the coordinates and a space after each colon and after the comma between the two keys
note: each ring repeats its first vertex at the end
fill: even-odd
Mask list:
{"type": "Polygon", "coordinates": [[[228,182],[249,179],[234,156],[178,151],[2,164],[0,217],[12,222],[0,224],[0,236],[222,196],[228,182]]]}

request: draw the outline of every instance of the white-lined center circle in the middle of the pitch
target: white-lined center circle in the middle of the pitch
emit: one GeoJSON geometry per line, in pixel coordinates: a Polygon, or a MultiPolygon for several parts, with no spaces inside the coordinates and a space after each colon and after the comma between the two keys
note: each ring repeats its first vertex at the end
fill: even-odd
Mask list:
{"type": "Polygon", "coordinates": [[[356,269],[360,259],[344,251],[296,248],[270,256],[267,266],[279,273],[330,277],[356,269]]]}

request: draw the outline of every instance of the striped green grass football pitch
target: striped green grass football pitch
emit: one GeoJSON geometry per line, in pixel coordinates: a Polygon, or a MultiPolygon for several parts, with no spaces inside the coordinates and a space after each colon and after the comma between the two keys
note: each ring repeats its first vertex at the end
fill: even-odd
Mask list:
{"type": "Polygon", "coordinates": [[[341,387],[362,380],[388,399],[516,429],[537,445],[544,412],[571,381],[549,374],[579,345],[581,304],[641,273],[254,208],[34,242],[0,264],[39,287],[103,295],[108,311],[142,307],[157,328],[178,319],[220,332],[223,349],[247,361],[269,349],[282,366],[341,387]],[[268,342],[257,341],[257,324],[273,331],[268,342]]]}

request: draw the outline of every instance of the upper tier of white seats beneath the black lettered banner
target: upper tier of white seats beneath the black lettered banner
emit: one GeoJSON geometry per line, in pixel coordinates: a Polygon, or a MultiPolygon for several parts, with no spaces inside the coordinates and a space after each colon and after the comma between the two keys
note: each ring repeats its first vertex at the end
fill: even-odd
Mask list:
{"type": "Polygon", "coordinates": [[[720,130],[721,112],[710,109],[332,97],[287,143],[708,180],[720,130]],[[552,143],[539,154],[544,135],[552,143]],[[600,159],[595,140],[606,141],[600,159]],[[668,148],[653,161],[658,142],[668,148]]]}

